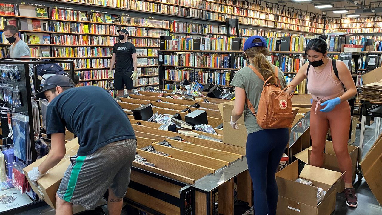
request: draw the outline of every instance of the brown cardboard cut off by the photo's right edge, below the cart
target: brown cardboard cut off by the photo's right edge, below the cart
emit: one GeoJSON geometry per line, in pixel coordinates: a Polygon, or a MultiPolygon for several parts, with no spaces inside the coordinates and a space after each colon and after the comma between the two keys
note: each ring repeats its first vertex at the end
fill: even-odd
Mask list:
{"type": "Polygon", "coordinates": [[[363,176],[379,204],[382,204],[382,134],[361,162],[363,176]]]}

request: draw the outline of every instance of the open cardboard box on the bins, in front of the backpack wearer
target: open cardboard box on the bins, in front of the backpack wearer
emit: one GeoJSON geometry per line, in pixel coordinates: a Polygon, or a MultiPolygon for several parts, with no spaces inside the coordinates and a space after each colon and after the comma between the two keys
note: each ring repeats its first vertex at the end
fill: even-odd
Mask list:
{"type": "MultiPolygon", "coordinates": [[[[246,148],[247,129],[244,124],[244,113],[238,119],[236,124],[239,127],[239,129],[233,129],[230,124],[231,113],[232,113],[234,105],[235,105],[235,101],[229,101],[226,103],[217,104],[223,119],[223,128],[224,128],[223,143],[246,148]]],[[[294,117],[296,117],[298,110],[299,109],[295,109],[295,108],[293,109],[294,117]]],[[[257,123],[257,122],[255,121],[254,123],[257,123]]]]}

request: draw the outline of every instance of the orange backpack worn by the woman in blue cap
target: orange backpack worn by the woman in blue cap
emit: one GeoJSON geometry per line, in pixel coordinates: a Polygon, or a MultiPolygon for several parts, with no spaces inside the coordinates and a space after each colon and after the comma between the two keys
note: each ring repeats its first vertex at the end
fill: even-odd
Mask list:
{"type": "MultiPolygon", "coordinates": [[[[264,81],[264,77],[262,77],[259,71],[253,67],[253,65],[249,65],[249,68],[251,68],[253,72],[262,81],[264,81]]],[[[292,127],[293,112],[291,98],[295,93],[293,92],[292,94],[289,94],[285,92],[289,86],[287,86],[284,90],[281,90],[280,79],[278,79],[277,73],[277,67],[275,67],[276,76],[271,76],[266,81],[264,81],[257,114],[252,103],[248,98],[246,98],[248,108],[256,117],[257,124],[259,124],[262,129],[280,129],[292,127]],[[272,77],[277,78],[278,84],[267,83],[272,77]]]]}

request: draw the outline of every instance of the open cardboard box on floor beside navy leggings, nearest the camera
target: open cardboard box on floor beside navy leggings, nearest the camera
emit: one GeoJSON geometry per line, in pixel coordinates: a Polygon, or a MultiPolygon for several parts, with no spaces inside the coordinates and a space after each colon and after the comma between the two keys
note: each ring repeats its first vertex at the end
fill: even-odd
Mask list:
{"type": "Polygon", "coordinates": [[[278,186],[277,215],[330,215],[335,209],[338,183],[342,173],[316,166],[305,165],[298,174],[298,161],[276,173],[278,186]],[[313,186],[296,182],[303,178],[313,186]],[[327,191],[317,206],[317,188],[327,191]]]}

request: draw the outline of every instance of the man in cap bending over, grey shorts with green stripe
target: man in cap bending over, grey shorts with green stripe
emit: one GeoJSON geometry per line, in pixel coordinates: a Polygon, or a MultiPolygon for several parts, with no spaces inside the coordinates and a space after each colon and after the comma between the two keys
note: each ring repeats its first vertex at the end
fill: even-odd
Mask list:
{"type": "Polygon", "coordinates": [[[65,156],[67,129],[77,135],[79,149],[56,193],[56,214],[73,214],[73,204],[94,210],[107,190],[109,214],[121,214],[136,153],[136,137],[125,112],[106,90],[75,88],[64,75],[48,77],[42,86],[36,96],[49,101],[46,134],[51,135],[52,147],[45,161],[28,172],[29,181],[38,186],[65,156]]]}

